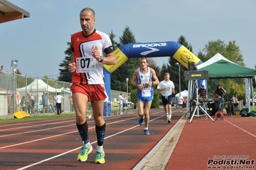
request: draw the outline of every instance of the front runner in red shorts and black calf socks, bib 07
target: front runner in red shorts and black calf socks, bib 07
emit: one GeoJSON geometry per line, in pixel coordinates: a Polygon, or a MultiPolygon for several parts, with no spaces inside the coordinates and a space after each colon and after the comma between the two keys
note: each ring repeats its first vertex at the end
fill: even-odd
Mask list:
{"type": "MultiPolygon", "coordinates": [[[[76,112],[76,126],[83,142],[77,160],[87,160],[92,151],[86,120],[87,102],[92,104],[92,114],[97,135],[96,164],[105,163],[103,142],[106,123],[103,118],[105,83],[103,64],[114,65],[116,58],[114,47],[109,36],[94,29],[96,22],[95,12],[91,8],[84,8],[80,12],[80,25],[83,31],[71,36],[71,63],[68,65],[72,74],[71,91],[73,93],[74,111],[76,112]],[[87,65],[87,68],[82,66],[87,65]],[[80,65],[83,63],[83,65],[80,65]]],[[[104,169],[104,168],[102,168],[104,169]]]]}

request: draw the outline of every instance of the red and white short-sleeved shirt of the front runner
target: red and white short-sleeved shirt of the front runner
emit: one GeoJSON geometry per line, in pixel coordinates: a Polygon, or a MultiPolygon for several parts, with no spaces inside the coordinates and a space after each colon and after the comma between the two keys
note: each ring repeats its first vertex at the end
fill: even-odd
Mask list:
{"type": "Polygon", "coordinates": [[[94,29],[89,35],[83,32],[71,36],[71,50],[74,52],[76,71],[73,72],[72,82],[79,84],[104,84],[103,63],[92,57],[93,50],[99,50],[101,56],[114,51],[110,38],[105,33],[94,29]]]}

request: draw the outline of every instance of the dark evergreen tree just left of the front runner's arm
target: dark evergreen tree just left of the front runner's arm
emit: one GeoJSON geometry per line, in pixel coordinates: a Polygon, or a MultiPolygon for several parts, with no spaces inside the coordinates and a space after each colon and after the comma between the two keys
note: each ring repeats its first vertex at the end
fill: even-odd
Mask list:
{"type": "Polygon", "coordinates": [[[67,42],[67,45],[69,46],[67,48],[67,50],[65,50],[65,54],[67,56],[65,56],[64,60],[62,60],[62,63],[60,63],[60,76],[58,77],[58,81],[65,81],[65,82],[71,82],[71,75],[72,73],[69,72],[69,70],[67,69],[67,66],[69,65],[70,61],[71,61],[71,43],[67,42]],[[63,68],[63,69],[62,69],[63,68]]]}

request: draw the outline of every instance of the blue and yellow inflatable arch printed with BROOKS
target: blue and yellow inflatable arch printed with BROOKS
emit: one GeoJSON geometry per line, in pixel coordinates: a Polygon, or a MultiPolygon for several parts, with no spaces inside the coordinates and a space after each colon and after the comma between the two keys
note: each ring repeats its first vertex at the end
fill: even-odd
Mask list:
{"type": "MultiPolygon", "coordinates": [[[[115,65],[103,65],[105,76],[105,88],[108,95],[108,101],[111,101],[110,73],[114,72],[119,66],[130,58],[155,58],[155,57],[173,57],[183,66],[188,68],[188,62],[194,62],[196,65],[203,63],[185,46],[177,42],[151,42],[151,43],[128,43],[115,50],[115,65]]],[[[200,81],[198,86],[201,87],[200,81]]],[[[207,86],[207,84],[205,84],[207,86]]],[[[110,104],[105,102],[104,116],[110,116],[110,104]],[[108,107],[108,108],[107,108],[108,107]],[[108,113],[107,113],[108,111],[108,113]]]]}

